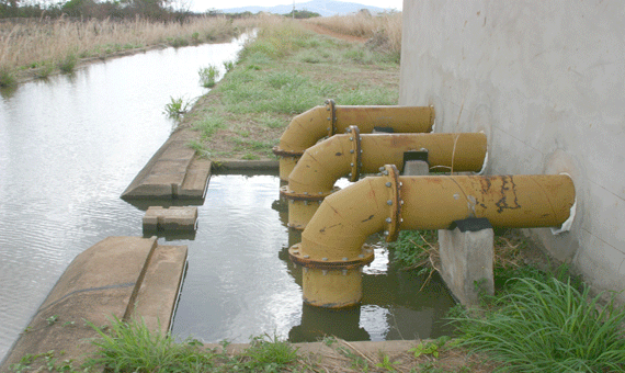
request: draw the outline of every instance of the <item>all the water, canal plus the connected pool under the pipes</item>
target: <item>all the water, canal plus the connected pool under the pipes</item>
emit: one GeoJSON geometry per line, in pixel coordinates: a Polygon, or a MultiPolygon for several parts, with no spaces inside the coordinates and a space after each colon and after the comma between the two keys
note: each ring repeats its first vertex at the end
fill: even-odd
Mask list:
{"type": "MultiPolygon", "coordinates": [[[[0,357],[78,253],[109,236],[143,235],[147,205],[120,194],[169,136],[164,105],[206,92],[200,67],[236,59],[241,43],[152,50],[1,92],[0,357]]],[[[174,335],[247,342],[266,332],[297,342],[446,332],[445,286],[432,281],[419,292],[424,279],[394,268],[382,246],[364,270],[362,306],[304,305],[300,269],[287,259],[299,234],[286,227],[279,187],[272,174],[213,176],[196,203],[197,231],[159,237],[189,247],[174,335]]]]}

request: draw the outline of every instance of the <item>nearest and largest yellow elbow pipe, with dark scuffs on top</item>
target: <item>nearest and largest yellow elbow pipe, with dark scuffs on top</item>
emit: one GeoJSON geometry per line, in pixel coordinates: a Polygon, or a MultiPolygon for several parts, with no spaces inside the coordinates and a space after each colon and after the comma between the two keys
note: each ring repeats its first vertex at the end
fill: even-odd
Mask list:
{"type": "Polygon", "coordinates": [[[558,176],[400,177],[385,166],[329,195],[289,249],[305,268],[304,301],[346,307],[362,297],[361,269],[373,261],[366,238],[383,230],[387,241],[400,229],[445,229],[454,221],[486,217],[493,227],[562,225],[571,215],[575,187],[558,176]]]}

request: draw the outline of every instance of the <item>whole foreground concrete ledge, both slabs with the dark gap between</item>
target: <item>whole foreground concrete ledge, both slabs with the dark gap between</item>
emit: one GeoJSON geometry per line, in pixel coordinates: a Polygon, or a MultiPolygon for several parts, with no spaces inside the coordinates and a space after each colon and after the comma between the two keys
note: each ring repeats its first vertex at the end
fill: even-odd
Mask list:
{"type": "Polygon", "coordinates": [[[88,323],[102,327],[113,317],[141,317],[151,330],[169,330],[185,267],[186,246],[159,246],[156,237],[103,239],[68,265],[0,372],[26,354],[50,350],[65,351],[59,360],[79,366],[99,337],[88,323]]]}

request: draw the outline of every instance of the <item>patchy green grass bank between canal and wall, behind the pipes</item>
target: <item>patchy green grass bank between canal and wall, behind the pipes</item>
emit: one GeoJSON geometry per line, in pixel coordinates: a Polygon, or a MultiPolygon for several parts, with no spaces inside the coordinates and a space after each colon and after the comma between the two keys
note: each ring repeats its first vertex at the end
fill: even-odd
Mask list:
{"type": "Polygon", "coordinates": [[[319,35],[303,21],[265,18],[236,66],[198,100],[181,126],[212,160],[275,159],[293,116],[325,100],[340,105],[397,104],[399,59],[393,53],[319,35]]]}

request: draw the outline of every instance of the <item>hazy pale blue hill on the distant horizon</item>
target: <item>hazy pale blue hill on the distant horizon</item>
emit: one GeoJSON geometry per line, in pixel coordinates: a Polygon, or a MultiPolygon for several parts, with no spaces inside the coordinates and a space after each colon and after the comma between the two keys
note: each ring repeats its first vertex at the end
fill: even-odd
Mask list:
{"type": "MultiPolygon", "coordinates": [[[[288,0],[285,0],[288,1],[288,0]]],[[[333,1],[333,0],[312,0],[308,2],[296,2],[295,10],[307,10],[309,12],[315,12],[321,14],[321,16],[331,16],[331,15],[344,15],[349,13],[355,13],[361,9],[367,9],[372,13],[379,13],[384,11],[391,11],[391,9],[384,9],[377,7],[368,7],[359,4],[355,2],[343,2],[343,1],[333,1]]],[[[242,7],[242,8],[229,8],[229,9],[219,9],[223,13],[242,13],[242,12],[270,12],[274,14],[286,14],[291,13],[293,10],[293,2],[287,3],[284,5],[275,5],[275,7],[242,7]]]]}

